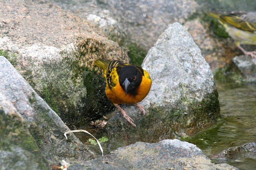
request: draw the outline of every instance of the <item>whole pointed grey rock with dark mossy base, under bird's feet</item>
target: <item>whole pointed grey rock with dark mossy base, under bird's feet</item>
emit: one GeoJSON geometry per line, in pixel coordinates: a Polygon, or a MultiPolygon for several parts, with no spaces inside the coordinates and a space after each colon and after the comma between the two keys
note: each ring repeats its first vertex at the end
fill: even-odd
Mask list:
{"type": "Polygon", "coordinates": [[[108,121],[104,132],[117,137],[119,144],[186,137],[217,121],[218,93],[210,66],[179,23],[169,25],[142,66],[152,78],[141,102],[147,114],[143,117],[135,106],[124,107],[137,128],[120,114],[108,121]]]}

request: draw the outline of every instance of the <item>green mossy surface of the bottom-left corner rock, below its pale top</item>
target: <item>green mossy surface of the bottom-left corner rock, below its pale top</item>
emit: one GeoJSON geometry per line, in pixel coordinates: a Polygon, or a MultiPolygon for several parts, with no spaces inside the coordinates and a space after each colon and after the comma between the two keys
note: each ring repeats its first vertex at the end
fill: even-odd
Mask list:
{"type": "Polygon", "coordinates": [[[26,155],[26,159],[30,160],[25,166],[36,166],[40,169],[48,169],[48,165],[43,158],[43,155],[39,152],[39,148],[35,143],[35,140],[30,135],[26,124],[16,114],[6,114],[4,110],[0,109],[0,150],[2,152],[11,152],[13,155],[5,155],[2,159],[8,159],[8,162],[12,161],[13,165],[19,161],[24,161],[23,155],[26,155]],[[17,148],[17,150],[15,149],[17,148]],[[19,149],[21,148],[21,150],[19,149]],[[11,160],[9,160],[11,159],[11,160]],[[46,168],[47,167],[47,168],[46,168]]]}

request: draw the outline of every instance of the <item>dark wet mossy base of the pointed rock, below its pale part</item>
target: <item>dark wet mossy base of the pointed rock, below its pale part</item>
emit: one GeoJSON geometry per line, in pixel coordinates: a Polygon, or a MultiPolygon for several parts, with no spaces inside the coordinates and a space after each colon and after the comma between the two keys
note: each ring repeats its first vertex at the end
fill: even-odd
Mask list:
{"type": "Polygon", "coordinates": [[[220,120],[217,90],[201,102],[180,101],[176,106],[152,106],[145,116],[135,106],[122,107],[132,117],[136,128],[131,126],[120,112],[108,121],[103,133],[108,136],[110,150],[143,141],[157,143],[163,139],[182,139],[209,128],[220,120]],[[210,113],[210,114],[209,114],[210,113]]]}

